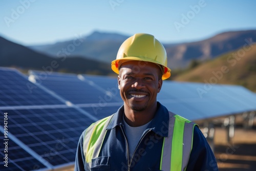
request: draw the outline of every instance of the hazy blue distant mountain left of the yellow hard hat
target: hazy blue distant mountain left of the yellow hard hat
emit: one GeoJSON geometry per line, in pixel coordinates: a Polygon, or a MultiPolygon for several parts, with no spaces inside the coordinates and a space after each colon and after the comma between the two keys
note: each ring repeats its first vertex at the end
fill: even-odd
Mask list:
{"type": "Polygon", "coordinates": [[[73,40],[57,42],[53,45],[29,46],[29,48],[52,57],[82,56],[110,63],[116,58],[122,42],[128,37],[117,33],[95,31],[89,36],[76,35],[73,40]]]}

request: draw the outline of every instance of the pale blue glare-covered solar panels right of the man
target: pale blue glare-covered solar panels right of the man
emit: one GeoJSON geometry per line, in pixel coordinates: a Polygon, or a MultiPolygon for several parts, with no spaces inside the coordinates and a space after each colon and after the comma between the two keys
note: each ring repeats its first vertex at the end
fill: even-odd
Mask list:
{"type": "MultiPolygon", "coordinates": [[[[255,110],[256,96],[239,86],[214,85],[206,88],[203,83],[164,81],[158,100],[173,111],[190,120],[255,110]],[[228,90],[230,88],[230,90],[228,90]],[[237,93],[250,94],[245,101],[237,93]],[[214,110],[213,110],[214,109],[214,110]]],[[[209,86],[209,85],[208,85],[209,86]]],[[[247,96],[245,97],[245,99],[247,96]]]]}

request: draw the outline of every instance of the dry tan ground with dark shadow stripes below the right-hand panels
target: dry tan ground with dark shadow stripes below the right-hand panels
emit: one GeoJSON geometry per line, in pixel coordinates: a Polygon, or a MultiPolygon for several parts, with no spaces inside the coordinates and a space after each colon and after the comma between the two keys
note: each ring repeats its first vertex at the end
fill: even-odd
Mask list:
{"type": "Polygon", "coordinates": [[[219,170],[256,170],[255,127],[249,130],[237,127],[230,142],[227,142],[226,129],[218,127],[215,129],[214,143],[219,170]]]}

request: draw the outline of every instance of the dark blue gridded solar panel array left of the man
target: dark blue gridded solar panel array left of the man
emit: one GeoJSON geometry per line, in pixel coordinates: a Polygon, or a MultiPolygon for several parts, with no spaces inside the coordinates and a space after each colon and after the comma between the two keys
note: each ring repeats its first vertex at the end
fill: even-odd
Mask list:
{"type": "MultiPolygon", "coordinates": [[[[82,131],[120,106],[120,102],[111,108],[102,105],[96,97],[110,99],[112,95],[103,89],[99,92],[76,75],[38,73],[35,82],[32,74],[27,77],[14,69],[0,68],[0,74],[0,113],[3,119],[8,114],[8,167],[1,164],[0,170],[49,170],[73,164],[82,131]],[[46,77],[52,82],[39,82],[46,77]]],[[[0,130],[1,139],[6,139],[4,120],[0,130]]],[[[1,143],[2,159],[7,154],[4,149],[1,143]]]]}

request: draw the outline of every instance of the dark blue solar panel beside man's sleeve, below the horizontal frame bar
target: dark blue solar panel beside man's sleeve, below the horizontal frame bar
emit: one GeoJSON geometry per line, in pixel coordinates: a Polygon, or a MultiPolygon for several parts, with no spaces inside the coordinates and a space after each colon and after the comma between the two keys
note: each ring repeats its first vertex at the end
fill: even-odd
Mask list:
{"type": "Polygon", "coordinates": [[[74,162],[78,139],[94,122],[73,108],[0,110],[4,112],[9,132],[53,166],[74,162]]]}

